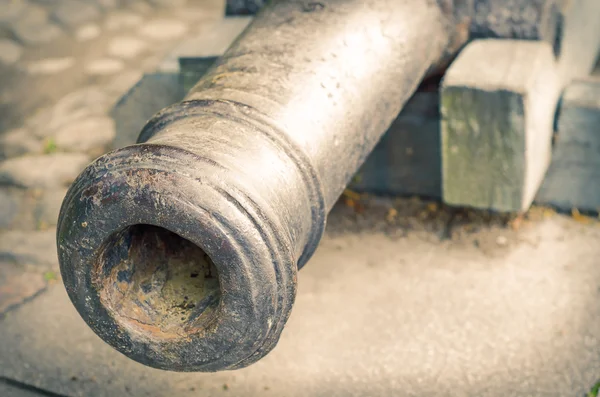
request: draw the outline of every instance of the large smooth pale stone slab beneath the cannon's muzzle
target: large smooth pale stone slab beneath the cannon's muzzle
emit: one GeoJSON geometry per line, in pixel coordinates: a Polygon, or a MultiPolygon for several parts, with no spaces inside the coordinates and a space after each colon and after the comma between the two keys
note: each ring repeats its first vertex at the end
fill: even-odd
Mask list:
{"type": "Polygon", "coordinates": [[[565,397],[597,381],[598,226],[557,216],[440,242],[371,228],[385,212],[344,211],[299,273],[279,345],[249,368],[146,368],[96,337],[54,285],[0,321],[0,376],[86,397],[565,397]]]}

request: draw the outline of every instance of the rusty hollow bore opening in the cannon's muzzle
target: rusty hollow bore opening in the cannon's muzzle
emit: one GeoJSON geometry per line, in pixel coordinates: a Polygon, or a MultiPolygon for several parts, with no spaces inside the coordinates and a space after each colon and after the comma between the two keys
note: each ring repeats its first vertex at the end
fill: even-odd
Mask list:
{"type": "Polygon", "coordinates": [[[94,266],[94,285],[109,314],[132,336],[186,338],[216,318],[216,267],[197,245],[152,225],[111,235],[94,266]]]}

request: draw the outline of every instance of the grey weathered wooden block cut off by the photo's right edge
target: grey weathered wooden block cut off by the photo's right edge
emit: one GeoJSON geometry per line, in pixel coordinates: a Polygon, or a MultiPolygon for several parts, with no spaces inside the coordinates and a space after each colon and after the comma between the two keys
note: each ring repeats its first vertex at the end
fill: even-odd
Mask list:
{"type": "Polygon", "coordinates": [[[559,114],[552,164],[537,201],[600,210],[600,78],[571,84],[559,114]]]}

